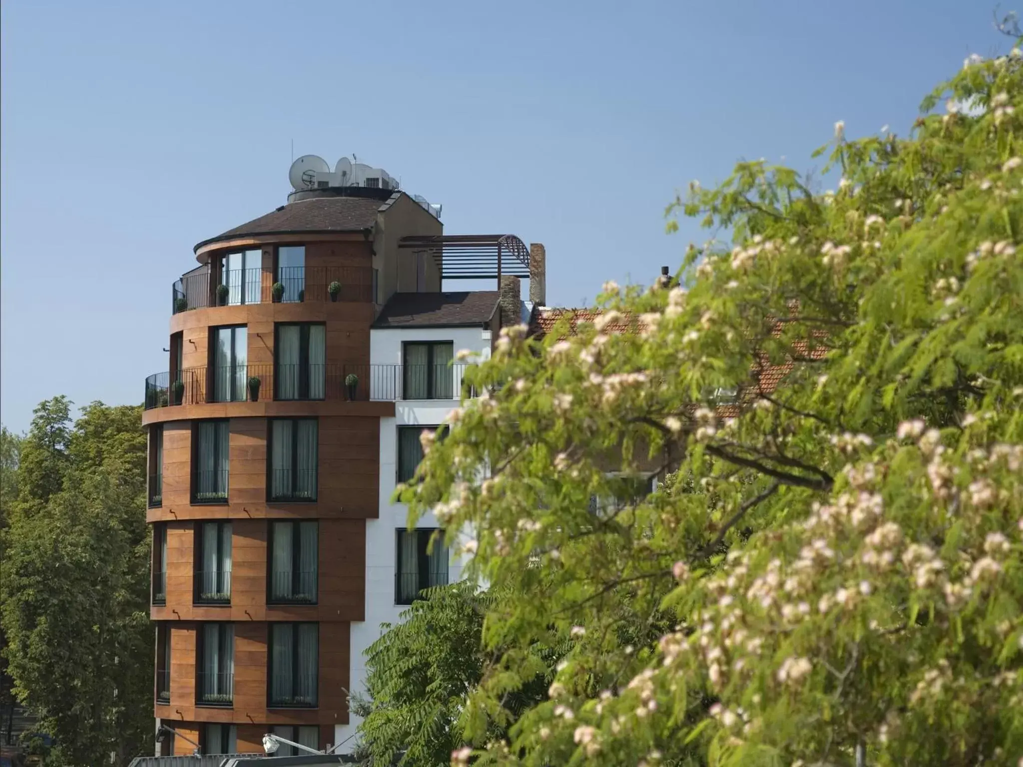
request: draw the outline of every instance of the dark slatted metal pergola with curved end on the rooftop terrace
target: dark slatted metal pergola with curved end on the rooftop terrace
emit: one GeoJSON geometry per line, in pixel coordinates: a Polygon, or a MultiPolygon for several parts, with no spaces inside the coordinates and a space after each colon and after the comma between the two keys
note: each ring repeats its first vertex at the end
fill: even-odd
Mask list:
{"type": "Polygon", "coordinates": [[[424,253],[441,270],[441,279],[529,277],[529,245],[514,234],[440,234],[402,237],[398,247],[424,253]]]}

